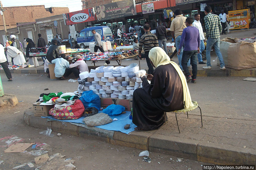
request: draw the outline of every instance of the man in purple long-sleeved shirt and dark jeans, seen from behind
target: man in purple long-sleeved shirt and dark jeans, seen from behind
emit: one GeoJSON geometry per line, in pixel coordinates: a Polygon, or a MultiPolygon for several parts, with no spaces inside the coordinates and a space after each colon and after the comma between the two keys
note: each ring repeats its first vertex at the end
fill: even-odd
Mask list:
{"type": "Polygon", "coordinates": [[[193,27],[193,19],[188,17],[185,21],[187,28],[184,28],[181,40],[179,44],[179,51],[184,44],[182,59],[181,59],[181,66],[185,72],[187,77],[187,83],[192,80],[192,83],[196,83],[197,79],[197,54],[200,52],[200,35],[199,30],[196,27],[193,27]],[[188,68],[186,67],[188,60],[190,59],[192,65],[192,77],[189,73],[188,68]]]}

